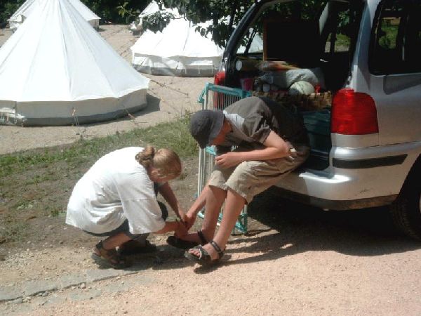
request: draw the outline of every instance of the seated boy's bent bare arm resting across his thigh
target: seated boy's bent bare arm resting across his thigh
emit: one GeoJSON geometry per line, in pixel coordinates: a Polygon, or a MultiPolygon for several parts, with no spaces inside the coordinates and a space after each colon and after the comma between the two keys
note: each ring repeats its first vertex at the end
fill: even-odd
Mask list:
{"type": "Polygon", "coordinates": [[[270,160],[279,159],[290,156],[291,152],[289,143],[283,140],[274,131],[270,131],[263,145],[266,148],[261,150],[251,150],[249,152],[227,152],[215,157],[215,163],[222,168],[229,168],[236,166],[241,162],[248,162],[251,160],[270,160]]]}

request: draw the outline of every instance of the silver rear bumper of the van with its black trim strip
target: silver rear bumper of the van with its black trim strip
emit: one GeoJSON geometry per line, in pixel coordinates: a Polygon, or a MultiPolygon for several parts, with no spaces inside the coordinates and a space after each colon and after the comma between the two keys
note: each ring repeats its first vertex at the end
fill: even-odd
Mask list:
{"type": "Polygon", "coordinates": [[[277,185],[283,197],[322,209],[361,209],[391,204],[415,160],[421,143],[375,147],[332,147],[323,171],[298,169],[277,185]]]}

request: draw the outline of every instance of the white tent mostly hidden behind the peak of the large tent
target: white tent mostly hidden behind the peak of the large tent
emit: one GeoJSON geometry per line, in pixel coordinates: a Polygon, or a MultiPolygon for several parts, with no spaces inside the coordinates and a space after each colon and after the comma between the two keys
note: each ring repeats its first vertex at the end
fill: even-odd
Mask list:
{"type": "MultiPolygon", "coordinates": [[[[23,21],[27,19],[30,13],[34,11],[34,8],[39,4],[40,0],[27,0],[25,1],[18,10],[13,13],[11,18],[8,19],[9,27],[13,29],[17,29],[23,21]]],[[[42,1],[42,0],[41,0],[42,1]]],[[[85,4],[83,4],[80,0],[69,0],[69,2],[76,8],[77,11],[83,16],[85,20],[89,22],[90,25],[98,29],[100,26],[100,17],[93,13],[85,4]]]]}

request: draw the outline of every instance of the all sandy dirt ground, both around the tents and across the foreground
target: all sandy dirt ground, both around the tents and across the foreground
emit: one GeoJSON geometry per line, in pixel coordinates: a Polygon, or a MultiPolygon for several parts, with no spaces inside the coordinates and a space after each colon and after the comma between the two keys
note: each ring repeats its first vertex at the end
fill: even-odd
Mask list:
{"type": "MultiPolygon", "coordinates": [[[[102,27],[100,34],[128,58],[128,43],[135,39],[125,27],[102,27]]],[[[93,138],[178,117],[198,108],[196,96],[210,80],[149,77],[154,80],[151,104],[135,114],[135,121],[79,128],[0,126],[1,153],[72,143],[81,136],[93,138]]],[[[187,209],[196,190],[197,159],[183,164],[185,178],[172,185],[187,209]]],[[[67,199],[69,190],[51,198],[67,199]]],[[[0,293],[32,280],[49,282],[98,270],[90,258],[98,239],[65,225],[64,213],[32,217],[28,212],[25,220],[30,230],[25,238],[0,244],[0,293]]],[[[222,263],[214,268],[189,263],[182,251],[166,244],[165,235],[152,235],[159,251],[133,257],[133,274],[0,303],[0,314],[421,314],[420,243],[396,232],[385,208],[325,212],[280,199],[269,190],[250,205],[248,229],[247,235],[232,236],[222,263]]]]}

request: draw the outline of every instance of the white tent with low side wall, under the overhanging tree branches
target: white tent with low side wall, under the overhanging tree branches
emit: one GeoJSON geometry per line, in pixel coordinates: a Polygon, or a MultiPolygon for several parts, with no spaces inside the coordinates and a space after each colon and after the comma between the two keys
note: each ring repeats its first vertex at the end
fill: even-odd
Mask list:
{"type": "MultiPolygon", "coordinates": [[[[152,2],[140,18],[156,11],[159,7],[152,2]]],[[[147,30],[131,47],[133,67],[149,74],[212,76],[220,66],[223,49],[210,37],[202,37],[177,11],[171,12],[177,18],[162,32],[147,30]]]]}

